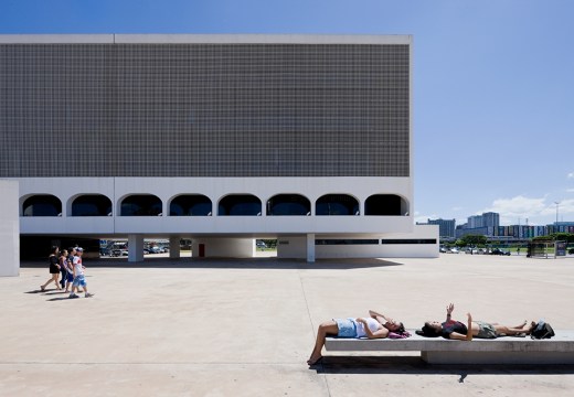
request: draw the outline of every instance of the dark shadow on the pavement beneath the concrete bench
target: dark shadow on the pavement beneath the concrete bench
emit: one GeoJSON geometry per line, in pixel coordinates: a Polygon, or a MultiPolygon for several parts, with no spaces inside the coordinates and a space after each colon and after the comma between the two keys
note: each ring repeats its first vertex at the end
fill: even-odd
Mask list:
{"type": "Polygon", "coordinates": [[[415,375],[457,375],[464,383],[472,375],[555,375],[574,374],[574,365],[447,365],[427,364],[416,356],[323,356],[320,364],[309,366],[318,374],[415,374],[415,375]]]}

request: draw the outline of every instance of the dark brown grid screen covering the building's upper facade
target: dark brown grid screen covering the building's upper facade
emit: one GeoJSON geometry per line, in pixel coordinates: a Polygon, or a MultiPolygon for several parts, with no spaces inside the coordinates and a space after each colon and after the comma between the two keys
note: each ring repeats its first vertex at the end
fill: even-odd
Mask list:
{"type": "Polygon", "coordinates": [[[0,176],[408,176],[407,44],[2,44],[0,176]]]}

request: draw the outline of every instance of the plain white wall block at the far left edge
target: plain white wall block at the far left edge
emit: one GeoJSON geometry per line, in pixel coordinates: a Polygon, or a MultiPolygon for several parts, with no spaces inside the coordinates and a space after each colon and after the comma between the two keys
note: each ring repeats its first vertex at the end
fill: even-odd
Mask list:
{"type": "Polygon", "coordinates": [[[0,277],[20,275],[20,210],[18,181],[0,181],[0,277]]]}

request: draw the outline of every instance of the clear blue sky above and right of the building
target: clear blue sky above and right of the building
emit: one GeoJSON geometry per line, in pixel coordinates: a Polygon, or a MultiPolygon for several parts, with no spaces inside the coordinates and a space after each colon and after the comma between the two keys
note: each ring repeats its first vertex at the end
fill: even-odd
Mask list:
{"type": "Polygon", "coordinates": [[[574,1],[2,0],[0,33],[412,34],[415,219],[574,222],[574,1]]]}

